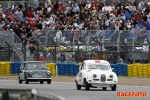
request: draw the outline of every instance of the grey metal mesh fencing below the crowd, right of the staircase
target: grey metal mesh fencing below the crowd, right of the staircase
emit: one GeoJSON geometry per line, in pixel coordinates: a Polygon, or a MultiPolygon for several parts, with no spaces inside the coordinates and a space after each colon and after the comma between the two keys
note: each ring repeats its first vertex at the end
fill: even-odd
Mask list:
{"type": "Polygon", "coordinates": [[[112,54],[117,52],[117,55],[120,56],[122,52],[125,53],[124,43],[128,47],[130,59],[148,59],[147,39],[150,38],[150,30],[34,31],[33,34],[48,52],[53,54],[57,52],[55,55],[57,62],[61,61],[64,53],[67,55],[66,58],[74,59],[71,61],[77,61],[76,56],[84,53],[88,59],[92,59],[91,55],[103,56],[102,54],[105,52],[109,53],[110,56],[111,52],[112,54]],[[54,50],[55,44],[57,46],[56,51],[54,50]],[[68,57],[70,53],[72,53],[71,57],[68,57]]]}

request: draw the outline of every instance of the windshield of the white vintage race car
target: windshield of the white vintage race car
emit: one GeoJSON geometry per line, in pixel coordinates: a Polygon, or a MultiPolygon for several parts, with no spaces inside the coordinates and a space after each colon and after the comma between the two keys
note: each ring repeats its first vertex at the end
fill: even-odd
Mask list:
{"type": "Polygon", "coordinates": [[[109,70],[109,65],[105,64],[88,64],[88,69],[101,69],[101,70],[109,70]]]}

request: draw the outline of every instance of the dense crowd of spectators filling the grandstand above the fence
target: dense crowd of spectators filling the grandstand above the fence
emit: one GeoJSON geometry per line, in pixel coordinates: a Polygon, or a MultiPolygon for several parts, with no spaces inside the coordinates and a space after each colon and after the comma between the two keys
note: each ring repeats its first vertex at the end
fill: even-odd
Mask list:
{"type": "Polygon", "coordinates": [[[13,30],[20,39],[29,39],[34,30],[150,30],[150,1],[41,0],[34,6],[12,3],[7,9],[0,5],[0,30],[13,30]]]}

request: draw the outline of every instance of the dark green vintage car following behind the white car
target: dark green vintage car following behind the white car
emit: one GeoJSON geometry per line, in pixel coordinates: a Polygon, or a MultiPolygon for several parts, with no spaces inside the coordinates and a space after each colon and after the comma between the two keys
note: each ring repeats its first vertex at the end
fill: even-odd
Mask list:
{"type": "Polygon", "coordinates": [[[23,81],[26,84],[29,82],[40,82],[40,84],[43,84],[44,81],[47,81],[47,84],[51,84],[51,72],[45,62],[26,61],[21,65],[18,80],[20,84],[23,81]]]}

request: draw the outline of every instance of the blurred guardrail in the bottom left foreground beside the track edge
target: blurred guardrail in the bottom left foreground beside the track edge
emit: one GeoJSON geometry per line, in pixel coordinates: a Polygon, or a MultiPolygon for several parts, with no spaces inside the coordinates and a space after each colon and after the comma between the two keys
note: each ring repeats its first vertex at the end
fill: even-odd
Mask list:
{"type": "Polygon", "coordinates": [[[0,88],[0,100],[63,100],[52,94],[40,93],[36,89],[0,88]]]}

